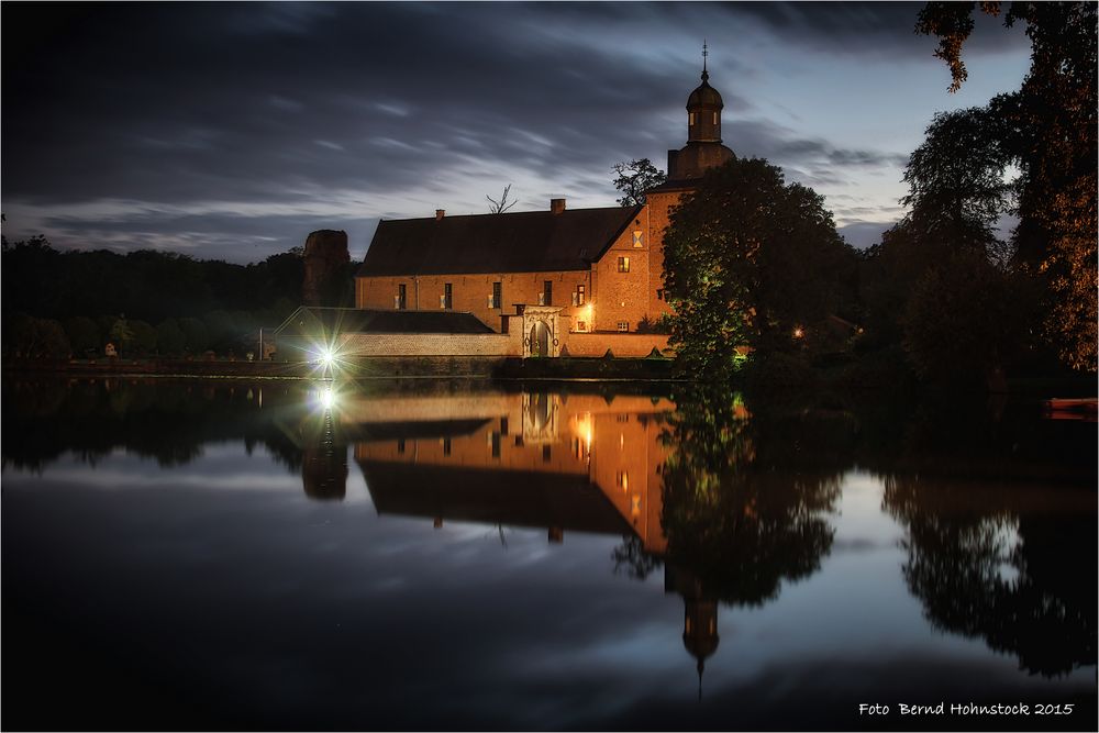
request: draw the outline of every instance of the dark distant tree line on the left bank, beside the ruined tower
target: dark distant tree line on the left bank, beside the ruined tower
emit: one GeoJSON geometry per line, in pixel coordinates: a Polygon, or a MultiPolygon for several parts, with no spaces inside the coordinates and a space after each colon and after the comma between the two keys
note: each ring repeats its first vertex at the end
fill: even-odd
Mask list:
{"type": "Polygon", "coordinates": [[[301,247],[249,265],[143,249],[67,251],[44,236],[2,244],[5,357],[201,355],[254,348],[301,304],[301,247]]]}

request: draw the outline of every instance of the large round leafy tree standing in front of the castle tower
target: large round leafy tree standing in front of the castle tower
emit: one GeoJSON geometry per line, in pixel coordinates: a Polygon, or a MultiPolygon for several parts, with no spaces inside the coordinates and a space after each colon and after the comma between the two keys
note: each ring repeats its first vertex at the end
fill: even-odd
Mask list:
{"type": "Polygon", "coordinates": [[[843,307],[854,253],[823,197],[763,159],[707,173],[664,240],[670,343],[688,373],[724,379],[737,347],[791,349],[843,307]]]}

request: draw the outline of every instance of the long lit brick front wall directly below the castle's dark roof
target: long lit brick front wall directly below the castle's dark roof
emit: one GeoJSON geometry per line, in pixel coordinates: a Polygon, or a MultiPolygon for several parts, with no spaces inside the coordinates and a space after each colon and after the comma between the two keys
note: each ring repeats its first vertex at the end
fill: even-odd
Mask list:
{"type": "Polygon", "coordinates": [[[500,316],[513,314],[515,303],[539,304],[539,296],[547,280],[552,284],[550,304],[564,308],[564,316],[571,315],[575,310],[571,308],[573,293],[578,285],[584,285],[590,298],[591,273],[588,270],[358,277],[355,279],[355,307],[391,309],[395,307],[393,298],[399,290],[398,286],[404,285],[406,307],[409,310],[441,310],[439,299],[444,292],[445,284],[449,282],[451,310],[473,313],[499,332],[500,316]],[[491,308],[489,304],[493,282],[500,284],[500,308],[491,308]]]}

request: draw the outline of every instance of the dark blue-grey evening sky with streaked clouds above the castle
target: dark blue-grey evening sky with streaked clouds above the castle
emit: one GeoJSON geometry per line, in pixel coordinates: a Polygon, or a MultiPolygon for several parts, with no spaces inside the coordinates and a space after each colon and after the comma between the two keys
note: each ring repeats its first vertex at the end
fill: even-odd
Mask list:
{"type": "Polygon", "coordinates": [[[902,213],[935,111],[1029,65],[980,20],[948,95],[908,3],[2,7],[4,234],[254,262],[379,218],[614,206],[611,166],[686,140],[701,44],[742,156],[828,198],[850,241],[902,213]]]}

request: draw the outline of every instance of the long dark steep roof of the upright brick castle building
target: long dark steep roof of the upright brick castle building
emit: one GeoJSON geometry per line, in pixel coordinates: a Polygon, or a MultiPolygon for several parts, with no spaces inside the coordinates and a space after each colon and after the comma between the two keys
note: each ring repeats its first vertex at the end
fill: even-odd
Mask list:
{"type": "Polygon", "coordinates": [[[382,221],[358,277],[586,270],[640,207],[382,221]]]}

